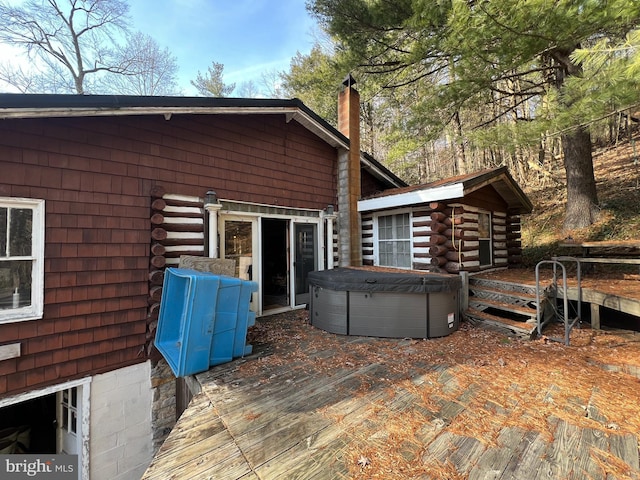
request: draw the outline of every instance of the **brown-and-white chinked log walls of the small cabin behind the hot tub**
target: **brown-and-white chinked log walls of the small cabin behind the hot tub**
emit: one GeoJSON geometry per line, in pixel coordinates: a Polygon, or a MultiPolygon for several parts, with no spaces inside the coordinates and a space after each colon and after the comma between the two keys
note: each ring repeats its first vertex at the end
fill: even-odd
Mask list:
{"type": "MultiPolygon", "coordinates": [[[[412,212],[413,268],[448,273],[480,270],[478,213],[481,209],[462,203],[432,202],[412,212]]],[[[491,213],[493,266],[522,262],[520,216],[491,213]]],[[[364,265],[374,265],[373,217],[362,219],[364,265]]]]}

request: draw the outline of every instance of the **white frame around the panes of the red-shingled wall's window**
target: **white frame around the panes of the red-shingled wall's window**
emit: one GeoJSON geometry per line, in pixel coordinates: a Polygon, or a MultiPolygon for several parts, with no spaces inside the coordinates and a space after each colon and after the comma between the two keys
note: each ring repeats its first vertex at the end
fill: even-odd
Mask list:
{"type": "Polygon", "coordinates": [[[0,197],[0,207],[24,208],[33,212],[31,255],[5,257],[6,252],[0,252],[0,263],[15,260],[31,261],[31,305],[0,310],[0,324],[42,318],[44,310],[44,200],[0,197]]]}

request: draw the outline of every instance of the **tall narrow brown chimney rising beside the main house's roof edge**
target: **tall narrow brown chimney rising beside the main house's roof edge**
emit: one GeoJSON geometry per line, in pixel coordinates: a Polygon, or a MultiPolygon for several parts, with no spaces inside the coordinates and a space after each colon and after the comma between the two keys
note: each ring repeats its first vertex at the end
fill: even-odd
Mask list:
{"type": "Polygon", "coordinates": [[[353,88],[351,75],[342,82],[338,96],[338,130],[349,138],[349,151],[340,152],[338,160],[338,215],[340,265],[362,265],[362,235],[358,200],[360,184],[360,94],[353,88]]]}

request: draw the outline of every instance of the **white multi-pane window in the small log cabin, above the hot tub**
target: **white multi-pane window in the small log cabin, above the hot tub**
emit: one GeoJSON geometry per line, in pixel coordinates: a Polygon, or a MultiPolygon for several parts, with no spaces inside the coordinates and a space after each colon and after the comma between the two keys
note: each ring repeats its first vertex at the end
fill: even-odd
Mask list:
{"type": "Polygon", "coordinates": [[[377,217],[378,265],[411,268],[411,224],[409,213],[377,217]]]}

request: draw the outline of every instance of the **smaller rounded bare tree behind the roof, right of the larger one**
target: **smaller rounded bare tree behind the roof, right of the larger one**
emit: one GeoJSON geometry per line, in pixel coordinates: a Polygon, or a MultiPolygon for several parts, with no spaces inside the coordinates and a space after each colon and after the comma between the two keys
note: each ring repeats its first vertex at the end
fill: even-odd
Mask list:
{"type": "Polygon", "coordinates": [[[120,62],[129,61],[127,74],[103,78],[105,92],[121,95],[176,95],[179,93],[178,62],[168,48],[164,50],[149,35],[138,32],[118,50],[120,62]]]}

